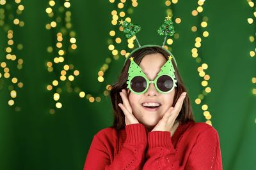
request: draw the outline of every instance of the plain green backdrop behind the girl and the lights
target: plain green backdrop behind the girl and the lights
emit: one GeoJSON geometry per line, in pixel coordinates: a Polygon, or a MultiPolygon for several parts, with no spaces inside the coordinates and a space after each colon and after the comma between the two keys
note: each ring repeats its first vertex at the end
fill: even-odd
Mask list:
{"type": "MultiPolygon", "coordinates": [[[[15,43],[24,46],[17,52],[24,64],[21,70],[16,69],[15,64],[9,65],[10,73],[17,76],[24,87],[17,90],[15,104],[20,106],[20,111],[15,111],[7,104],[11,98],[10,78],[0,78],[0,169],[83,169],[93,135],[112,124],[111,102],[109,97],[102,96],[102,92],[106,85],[116,81],[125,60],[123,56],[114,60],[108,50],[109,31],[118,30],[117,26],[111,25],[111,11],[117,9],[116,3],[78,0],[70,3],[77,50],[67,57],[68,62],[80,71],[72,83],[86,94],[100,95],[102,101],[90,103],[63,87],[62,108],[54,114],[49,113],[55,101],[46,86],[56,76],[47,71],[45,64],[52,60],[47,46],[55,43],[56,34],[54,29],[45,29],[51,22],[45,13],[48,1],[22,1],[25,10],[20,19],[25,25],[13,27],[13,32],[15,43]],[[111,57],[112,62],[104,74],[105,81],[99,83],[97,74],[106,57],[111,57]]],[[[131,3],[125,5],[131,6],[131,3]]],[[[196,6],[197,1],[179,1],[171,5],[173,17],[182,20],[175,24],[179,39],[174,40],[172,52],[188,88],[196,122],[205,122],[200,106],[193,102],[202,91],[202,78],[197,71],[200,64],[191,57],[191,48],[199,35],[192,32],[191,27],[199,28],[202,19],[201,15],[191,15],[196,6]]],[[[141,44],[161,45],[163,37],[157,36],[156,31],[166,17],[167,8],[164,1],[138,2],[129,17],[142,28],[138,33],[141,44]]],[[[255,24],[247,22],[248,17],[255,18],[253,9],[246,0],[205,1],[202,13],[209,18],[205,28],[209,37],[202,38],[199,56],[209,66],[206,73],[211,76],[209,86],[212,89],[204,103],[209,106],[212,125],[220,136],[223,169],[256,169],[256,99],[252,94],[256,60],[249,55],[255,49],[255,43],[248,39],[255,35],[255,24]]],[[[120,47],[126,46],[124,36],[120,37],[120,47]]],[[[7,40],[1,27],[0,62],[6,61],[7,40]]],[[[2,68],[0,73],[3,74],[2,68]]]]}

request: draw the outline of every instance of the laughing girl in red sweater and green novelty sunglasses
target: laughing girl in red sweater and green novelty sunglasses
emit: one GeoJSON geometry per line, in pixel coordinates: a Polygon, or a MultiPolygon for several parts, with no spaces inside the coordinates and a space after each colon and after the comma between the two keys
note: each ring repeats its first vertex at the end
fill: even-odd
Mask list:
{"type": "Polygon", "coordinates": [[[195,123],[172,53],[145,45],[130,56],[111,89],[113,127],[95,134],[84,170],[222,169],[218,132],[195,123]]]}

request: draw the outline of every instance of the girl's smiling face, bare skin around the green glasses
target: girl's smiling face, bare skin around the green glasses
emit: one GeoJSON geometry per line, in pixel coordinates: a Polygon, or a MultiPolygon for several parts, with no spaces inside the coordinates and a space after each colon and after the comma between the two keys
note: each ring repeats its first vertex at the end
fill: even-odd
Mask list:
{"type": "MultiPolygon", "coordinates": [[[[154,80],[165,62],[166,59],[161,53],[149,54],[143,57],[140,67],[148,80],[154,80]]],[[[156,90],[153,83],[150,83],[147,92],[144,94],[129,92],[128,98],[134,117],[148,129],[152,129],[163,118],[166,110],[172,106],[174,95],[175,89],[172,92],[162,94],[156,90]],[[157,108],[146,107],[158,104],[160,105],[157,108]]]]}

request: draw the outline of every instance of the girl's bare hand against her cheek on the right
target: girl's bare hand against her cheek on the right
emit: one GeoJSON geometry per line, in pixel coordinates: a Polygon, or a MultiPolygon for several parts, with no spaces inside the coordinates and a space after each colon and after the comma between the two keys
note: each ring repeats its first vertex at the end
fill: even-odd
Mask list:
{"type": "Polygon", "coordinates": [[[158,124],[156,125],[156,127],[154,127],[154,129],[152,130],[153,131],[168,131],[170,132],[172,127],[173,127],[173,124],[176,120],[176,118],[178,117],[179,113],[180,113],[180,110],[182,108],[182,104],[183,104],[183,101],[186,97],[186,92],[183,92],[177,103],[175,104],[174,108],[173,107],[170,107],[166,113],[164,113],[164,116],[163,118],[161,118],[161,120],[159,120],[158,124]]]}

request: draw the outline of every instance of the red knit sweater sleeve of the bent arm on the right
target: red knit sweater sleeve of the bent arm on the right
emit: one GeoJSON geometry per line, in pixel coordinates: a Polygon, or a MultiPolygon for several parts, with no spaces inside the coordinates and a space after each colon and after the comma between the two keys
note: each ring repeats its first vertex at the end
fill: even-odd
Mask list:
{"type": "Polygon", "coordinates": [[[177,160],[175,154],[176,150],[173,148],[170,132],[149,132],[148,160],[145,162],[143,169],[222,169],[220,141],[218,133],[212,127],[198,134],[193,147],[187,148],[185,154],[188,155],[188,160],[185,166],[180,166],[180,160],[177,160]]]}

